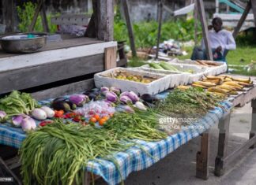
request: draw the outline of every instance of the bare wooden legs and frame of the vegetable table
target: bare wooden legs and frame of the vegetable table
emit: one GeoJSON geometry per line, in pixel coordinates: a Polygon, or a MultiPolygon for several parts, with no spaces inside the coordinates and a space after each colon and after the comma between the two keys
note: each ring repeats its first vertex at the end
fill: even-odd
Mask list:
{"type": "MultiPolygon", "coordinates": [[[[226,115],[220,119],[218,125],[219,141],[218,153],[215,160],[215,176],[224,175],[224,170],[228,164],[239,157],[244,150],[254,148],[256,144],[256,117],[254,116],[254,113],[256,113],[256,79],[253,79],[253,81],[254,87],[246,88],[246,91],[239,92],[238,95],[232,96],[234,98],[232,100],[233,107],[242,107],[246,103],[251,102],[253,117],[250,128],[250,139],[232,152],[232,154],[228,154],[228,134],[231,113],[226,113],[226,115]]],[[[198,151],[197,154],[196,176],[200,179],[209,178],[209,151],[209,133],[205,132],[201,135],[201,151],[198,151]]]]}

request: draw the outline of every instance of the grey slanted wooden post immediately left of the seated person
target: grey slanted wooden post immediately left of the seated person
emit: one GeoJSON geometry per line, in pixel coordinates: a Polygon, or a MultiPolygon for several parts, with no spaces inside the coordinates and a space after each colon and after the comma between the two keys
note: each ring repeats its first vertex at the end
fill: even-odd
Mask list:
{"type": "Polygon", "coordinates": [[[198,2],[199,17],[201,20],[203,39],[205,42],[206,56],[207,56],[208,60],[213,61],[213,52],[212,52],[211,46],[209,44],[208,26],[206,23],[204,3],[202,0],[197,0],[197,2],[198,2]]]}

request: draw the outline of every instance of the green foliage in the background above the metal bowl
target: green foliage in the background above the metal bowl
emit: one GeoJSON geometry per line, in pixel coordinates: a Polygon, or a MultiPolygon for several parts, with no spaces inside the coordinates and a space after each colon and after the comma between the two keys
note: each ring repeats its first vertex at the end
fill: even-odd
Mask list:
{"type": "MultiPolygon", "coordinates": [[[[28,26],[31,24],[32,18],[36,10],[36,3],[24,2],[23,6],[17,6],[17,14],[20,20],[18,28],[22,32],[28,31],[28,26]]],[[[56,31],[56,25],[51,24],[51,15],[47,15],[47,22],[50,28],[50,32],[54,33],[56,31]]],[[[43,31],[43,24],[41,17],[37,17],[34,31],[43,31]]]]}

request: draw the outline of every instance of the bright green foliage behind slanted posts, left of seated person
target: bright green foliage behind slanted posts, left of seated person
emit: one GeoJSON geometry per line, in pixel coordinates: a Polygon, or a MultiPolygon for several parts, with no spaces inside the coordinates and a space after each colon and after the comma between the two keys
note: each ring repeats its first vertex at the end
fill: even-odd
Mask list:
{"type": "MultiPolygon", "coordinates": [[[[158,31],[158,23],[156,21],[134,23],[133,28],[137,48],[152,47],[156,45],[158,31]]],[[[119,11],[117,11],[115,15],[114,38],[117,41],[126,40],[127,44],[130,43],[126,23],[121,19],[119,11]]],[[[194,39],[194,20],[179,19],[164,22],[162,24],[160,41],[163,42],[168,39],[175,39],[178,41],[189,41],[194,39]]]]}

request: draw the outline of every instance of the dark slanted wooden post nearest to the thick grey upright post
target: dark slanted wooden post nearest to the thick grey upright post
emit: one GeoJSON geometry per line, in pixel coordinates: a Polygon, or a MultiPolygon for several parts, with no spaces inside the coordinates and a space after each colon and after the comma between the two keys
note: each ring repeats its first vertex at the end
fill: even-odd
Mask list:
{"type": "Polygon", "coordinates": [[[126,26],[128,29],[128,35],[129,35],[129,40],[130,40],[130,49],[132,50],[132,55],[133,57],[137,56],[137,52],[136,52],[136,46],[135,46],[135,42],[134,42],[134,31],[133,31],[133,27],[130,21],[130,13],[129,13],[129,7],[127,4],[126,0],[121,0],[121,5],[122,5],[122,9],[126,18],[126,26]]]}

